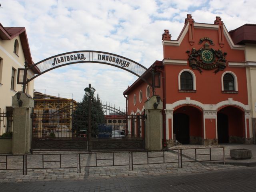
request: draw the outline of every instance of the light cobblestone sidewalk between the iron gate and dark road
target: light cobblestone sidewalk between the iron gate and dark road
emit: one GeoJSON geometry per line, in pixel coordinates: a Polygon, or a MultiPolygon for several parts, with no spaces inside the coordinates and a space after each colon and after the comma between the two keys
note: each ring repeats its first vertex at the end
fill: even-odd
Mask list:
{"type": "MultiPolygon", "coordinates": [[[[64,181],[64,180],[102,180],[102,179],[112,179],[112,178],[139,178],[139,177],[148,177],[148,176],[159,176],[164,174],[195,174],[195,173],[203,173],[215,170],[223,170],[223,169],[236,169],[241,166],[255,166],[256,165],[256,145],[243,145],[243,144],[225,144],[225,158],[226,165],[223,164],[222,161],[216,161],[213,164],[212,162],[183,162],[182,167],[178,162],[178,155],[175,152],[167,151],[165,152],[165,162],[173,162],[173,163],[161,163],[163,158],[161,156],[161,152],[154,152],[150,154],[150,156],[154,156],[154,158],[150,158],[150,163],[160,163],[160,164],[146,164],[146,165],[134,165],[133,170],[129,168],[129,166],[106,166],[104,163],[108,163],[108,165],[112,164],[112,160],[100,162],[98,161],[98,165],[102,165],[101,167],[86,167],[81,168],[81,173],[78,172],[76,167],[76,154],[70,154],[72,152],[66,152],[61,157],[62,168],[53,168],[58,167],[58,158],[60,153],[63,152],[34,152],[34,156],[28,156],[28,170],[27,175],[22,174],[22,170],[0,170],[0,183],[2,182],[37,182],[37,181],[64,181]],[[233,160],[229,157],[229,151],[233,148],[247,148],[251,149],[253,153],[252,159],[248,160],[233,160]],[[40,154],[52,154],[45,155],[45,161],[56,161],[56,162],[45,162],[44,168],[42,167],[42,160],[40,159],[40,154]],[[52,167],[52,168],[51,168],[52,167]],[[73,167],[73,168],[68,168],[73,167]],[[38,169],[36,169],[38,168],[38,169]]],[[[209,146],[198,146],[198,145],[181,145],[174,146],[173,148],[205,148],[209,146]]],[[[213,147],[212,154],[216,159],[223,159],[223,149],[219,148],[214,149],[213,147]]],[[[204,154],[207,153],[209,149],[202,149],[200,151],[198,149],[197,153],[204,154]]],[[[191,161],[193,160],[192,155],[193,150],[182,150],[182,160],[183,161],[191,161]]],[[[76,153],[76,152],[73,152],[76,153]]],[[[96,164],[95,154],[80,154],[81,155],[81,166],[94,166],[96,164]]],[[[21,156],[22,157],[22,156],[21,156]]],[[[10,156],[8,158],[8,169],[17,168],[18,166],[22,166],[20,162],[21,157],[15,158],[15,156],[10,156]]],[[[139,153],[134,152],[133,156],[133,164],[140,164],[147,162],[147,153],[139,153]]],[[[208,158],[209,156],[198,156],[197,160],[204,160],[204,158],[208,158]]],[[[109,158],[111,159],[111,154],[98,154],[98,159],[109,158]]],[[[4,162],[0,160],[0,162],[4,162]]],[[[129,164],[128,154],[124,153],[116,153],[114,155],[114,164],[129,164]]],[[[0,168],[4,169],[4,165],[0,164],[0,168]]]]}

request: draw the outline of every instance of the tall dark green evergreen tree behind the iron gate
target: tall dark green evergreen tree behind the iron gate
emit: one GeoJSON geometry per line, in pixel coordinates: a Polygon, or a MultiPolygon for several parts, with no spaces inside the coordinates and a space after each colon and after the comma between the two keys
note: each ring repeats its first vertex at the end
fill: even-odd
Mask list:
{"type": "MultiPolygon", "coordinates": [[[[88,131],[88,120],[89,120],[89,103],[88,96],[84,94],[84,98],[81,102],[78,102],[76,110],[73,112],[72,118],[72,129],[78,136],[81,130],[88,131]]],[[[98,125],[104,124],[105,116],[104,110],[102,109],[100,96],[97,94],[97,98],[92,96],[91,104],[91,136],[96,137],[98,135],[98,125]]]]}

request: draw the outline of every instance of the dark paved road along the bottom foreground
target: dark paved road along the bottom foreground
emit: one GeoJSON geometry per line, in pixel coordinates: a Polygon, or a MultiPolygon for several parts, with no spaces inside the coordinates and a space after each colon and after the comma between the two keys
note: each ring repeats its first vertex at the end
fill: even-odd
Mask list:
{"type": "Polygon", "coordinates": [[[82,191],[175,191],[175,192],[255,192],[256,167],[214,170],[196,174],[163,174],[136,178],[115,178],[55,182],[6,182],[0,191],[82,192],[82,191]]]}

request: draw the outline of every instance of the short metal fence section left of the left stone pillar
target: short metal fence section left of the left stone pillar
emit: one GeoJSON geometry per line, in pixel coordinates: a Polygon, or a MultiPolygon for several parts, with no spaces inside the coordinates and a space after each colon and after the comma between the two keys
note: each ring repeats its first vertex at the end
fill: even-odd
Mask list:
{"type": "MultiPolygon", "coordinates": [[[[7,132],[12,132],[12,114],[0,113],[0,136],[7,132]]],[[[6,135],[6,137],[9,136],[6,135]]]]}

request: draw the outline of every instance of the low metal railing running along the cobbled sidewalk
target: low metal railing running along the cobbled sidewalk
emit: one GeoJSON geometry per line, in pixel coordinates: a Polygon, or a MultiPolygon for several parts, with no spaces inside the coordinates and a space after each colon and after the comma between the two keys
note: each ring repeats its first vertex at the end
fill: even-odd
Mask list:
{"type": "Polygon", "coordinates": [[[184,162],[223,161],[225,164],[224,148],[181,148],[154,151],[125,151],[125,152],[92,152],[65,154],[26,154],[0,155],[0,170],[27,170],[81,168],[102,166],[129,166],[133,170],[136,165],[178,163],[182,168],[184,162]],[[205,152],[209,150],[209,152],[205,152]],[[214,150],[214,152],[213,152],[214,150]],[[220,150],[223,154],[220,153],[220,150]],[[194,155],[194,157],[192,156],[194,155]],[[207,158],[198,158],[204,156],[207,158]],[[220,158],[222,156],[223,158],[220,158]]]}

